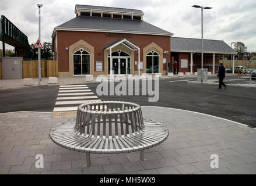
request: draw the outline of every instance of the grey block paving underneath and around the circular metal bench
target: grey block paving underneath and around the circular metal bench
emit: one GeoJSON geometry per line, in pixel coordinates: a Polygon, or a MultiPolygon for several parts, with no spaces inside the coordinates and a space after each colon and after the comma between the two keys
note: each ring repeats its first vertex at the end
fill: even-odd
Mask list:
{"type": "Polygon", "coordinates": [[[92,154],[92,167],[86,167],[85,153],[62,148],[49,138],[51,127],[68,117],[38,112],[0,114],[0,173],[255,174],[255,129],[185,110],[143,106],[142,112],[143,117],[162,120],[169,138],[145,150],[146,161],[139,161],[139,152],[92,154]],[[44,156],[44,169],[35,167],[37,154],[44,156]],[[213,154],[219,156],[219,169],[210,166],[213,154]]]}

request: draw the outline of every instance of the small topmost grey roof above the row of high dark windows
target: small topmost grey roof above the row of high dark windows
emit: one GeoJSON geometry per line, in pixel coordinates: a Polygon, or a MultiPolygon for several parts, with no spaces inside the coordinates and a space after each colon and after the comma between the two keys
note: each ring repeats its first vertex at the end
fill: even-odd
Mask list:
{"type": "Polygon", "coordinates": [[[116,13],[134,13],[138,15],[144,15],[142,10],[127,9],[127,8],[114,8],[107,6],[91,6],[91,5],[76,5],[77,10],[103,10],[106,12],[116,12],[116,13]]]}

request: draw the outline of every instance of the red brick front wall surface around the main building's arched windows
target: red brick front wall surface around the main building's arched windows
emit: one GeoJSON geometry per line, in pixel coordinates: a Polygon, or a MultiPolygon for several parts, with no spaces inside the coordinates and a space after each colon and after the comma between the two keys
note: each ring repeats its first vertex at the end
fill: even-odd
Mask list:
{"type": "MultiPolygon", "coordinates": [[[[118,37],[107,37],[106,33],[83,32],[83,31],[57,31],[58,32],[58,63],[59,71],[69,71],[69,51],[65,48],[71,46],[75,42],[84,40],[94,47],[94,61],[103,61],[104,66],[104,50],[103,47],[118,40],[118,37]],[[98,53],[101,53],[98,55],[98,53]]],[[[117,35],[117,34],[113,34],[117,35]]],[[[129,35],[128,41],[141,48],[141,60],[143,60],[143,48],[155,42],[163,51],[170,51],[170,36],[159,35],[141,35],[141,34],[120,34],[129,35]]],[[[124,39],[124,38],[119,38],[124,39]]],[[[170,55],[163,55],[167,62],[170,62],[170,55]]],[[[135,61],[138,61],[138,52],[135,51],[135,61]]],[[[166,70],[166,64],[163,64],[163,70],[166,70]]]]}

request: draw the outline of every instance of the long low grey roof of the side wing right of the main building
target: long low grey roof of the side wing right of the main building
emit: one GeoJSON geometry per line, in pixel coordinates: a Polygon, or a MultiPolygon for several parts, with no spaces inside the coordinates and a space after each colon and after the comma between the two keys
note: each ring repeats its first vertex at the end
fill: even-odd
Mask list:
{"type": "MultiPolygon", "coordinates": [[[[201,39],[171,37],[171,51],[201,51],[201,39]]],[[[236,53],[229,45],[220,40],[204,40],[205,52],[236,53]]]]}

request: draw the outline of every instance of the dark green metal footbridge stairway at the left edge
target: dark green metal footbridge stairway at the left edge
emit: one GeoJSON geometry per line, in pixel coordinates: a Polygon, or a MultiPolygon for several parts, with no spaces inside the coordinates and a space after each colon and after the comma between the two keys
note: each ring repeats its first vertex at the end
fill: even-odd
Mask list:
{"type": "Polygon", "coordinates": [[[27,36],[5,16],[1,16],[0,19],[0,41],[3,43],[3,57],[5,57],[5,43],[15,47],[18,56],[31,57],[27,36]]]}

